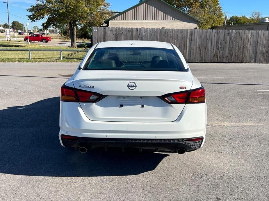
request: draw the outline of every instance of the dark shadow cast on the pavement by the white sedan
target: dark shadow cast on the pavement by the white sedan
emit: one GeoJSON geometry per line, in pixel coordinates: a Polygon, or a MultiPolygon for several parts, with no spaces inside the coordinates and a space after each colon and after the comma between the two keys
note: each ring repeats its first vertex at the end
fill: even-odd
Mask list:
{"type": "Polygon", "coordinates": [[[154,170],[168,154],[79,151],[59,142],[59,97],[0,110],[0,173],[124,176],[154,170]]]}

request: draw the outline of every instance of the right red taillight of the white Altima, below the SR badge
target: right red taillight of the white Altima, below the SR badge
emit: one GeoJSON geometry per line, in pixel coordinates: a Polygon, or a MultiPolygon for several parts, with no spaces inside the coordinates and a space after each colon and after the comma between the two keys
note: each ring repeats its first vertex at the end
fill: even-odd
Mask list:
{"type": "Polygon", "coordinates": [[[166,94],[161,96],[168,103],[205,103],[205,91],[203,87],[191,91],[166,94]]]}

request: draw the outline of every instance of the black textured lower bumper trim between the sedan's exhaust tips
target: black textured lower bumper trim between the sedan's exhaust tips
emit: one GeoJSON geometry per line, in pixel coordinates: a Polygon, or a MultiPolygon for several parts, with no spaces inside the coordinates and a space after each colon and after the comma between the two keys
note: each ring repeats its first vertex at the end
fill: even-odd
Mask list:
{"type": "Polygon", "coordinates": [[[74,140],[64,139],[65,135],[60,138],[65,147],[87,147],[87,149],[105,148],[114,149],[120,148],[123,151],[130,148],[136,148],[142,151],[171,151],[176,152],[177,149],[185,149],[186,151],[194,151],[201,147],[202,140],[197,142],[187,142],[188,139],[122,139],[122,138],[77,138],[74,140]]]}

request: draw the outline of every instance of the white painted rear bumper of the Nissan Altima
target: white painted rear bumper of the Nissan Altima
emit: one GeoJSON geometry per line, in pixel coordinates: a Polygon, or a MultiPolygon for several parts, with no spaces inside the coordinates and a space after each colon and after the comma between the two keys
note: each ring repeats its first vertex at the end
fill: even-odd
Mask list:
{"type": "MultiPolygon", "coordinates": [[[[84,141],[87,143],[90,138],[102,138],[101,143],[103,145],[111,143],[110,141],[107,142],[109,139],[139,139],[150,140],[149,142],[142,142],[143,146],[145,143],[153,143],[153,145],[147,144],[147,146],[160,147],[164,146],[162,144],[163,142],[158,142],[158,140],[162,139],[182,140],[186,138],[203,137],[202,143],[199,146],[202,147],[206,134],[206,115],[206,103],[199,103],[186,104],[179,117],[172,122],[92,121],[84,114],[79,103],[60,101],[59,140],[62,146],[67,146],[67,144],[63,143],[62,135],[76,136],[85,139],[84,141]],[[157,141],[152,142],[153,139],[157,141]],[[156,143],[158,143],[158,146],[156,146],[156,143]]],[[[117,141],[117,143],[120,143],[117,145],[118,147],[122,142],[117,141]]],[[[132,141],[128,143],[131,143],[129,144],[131,147],[143,147],[139,144],[140,142],[132,141]]],[[[167,148],[167,144],[169,144],[168,147],[173,148],[174,143],[182,145],[180,141],[170,144],[169,142],[165,142],[165,147],[163,148],[167,148]]],[[[71,147],[74,146],[77,145],[71,145],[71,147]]],[[[125,146],[126,144],[124,147],[125,146]]],[[[172,150],[172,148],[169,148],[169,150],[172,150]]]]}

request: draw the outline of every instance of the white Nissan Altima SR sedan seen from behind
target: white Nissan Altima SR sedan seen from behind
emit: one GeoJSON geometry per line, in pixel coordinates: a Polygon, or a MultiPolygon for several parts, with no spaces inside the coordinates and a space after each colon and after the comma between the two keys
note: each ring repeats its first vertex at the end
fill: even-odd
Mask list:
{"type": "Polygon", "coordinates": [[[94,45],[61,87],[60,143],[184,154],[203,146],[205,90],[178,48],[156,41],[94,45]]]}

